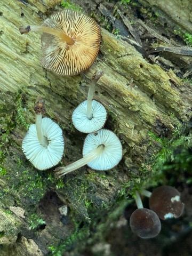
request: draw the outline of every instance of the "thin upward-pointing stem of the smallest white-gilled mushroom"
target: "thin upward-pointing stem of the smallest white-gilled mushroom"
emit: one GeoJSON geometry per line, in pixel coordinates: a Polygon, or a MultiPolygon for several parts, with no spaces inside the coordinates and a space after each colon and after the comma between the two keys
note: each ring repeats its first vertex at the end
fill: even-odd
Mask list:
{"type": "Polygon", "coordinates": [[[93,114],[92,114],[92,100],[93,100],[93,95],[95,92],[95,84],[97,84],[99,78],[103,75],[103,72],[98,71],[97,73],[95,73],[92,77],[92,82],[90,84],[89,87],[89,91],[87,94],[87,118],[88,119],[92,119],[93,118],[93,114]]]}

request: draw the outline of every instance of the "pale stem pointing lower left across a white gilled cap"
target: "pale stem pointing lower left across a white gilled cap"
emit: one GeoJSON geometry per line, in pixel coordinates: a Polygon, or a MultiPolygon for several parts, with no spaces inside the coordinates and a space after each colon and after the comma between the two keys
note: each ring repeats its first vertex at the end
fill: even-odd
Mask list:
{"type": "Polygon", "coordinates": [[[82,157],[81,159],[78,159],[72,164],[69,164],[65,167],[58,167],[54,171],[56,172],[55,175],[57,177],[61,177],[62,175],[65,175],[69,172],[73,172],[76,169],[86,165],[87,163],[90,163],[93,161],[95,158],[97,158],[103,151],[105,146],[103,144],[99,145],[94,151],[92,151],[90,154],[82,157]]]}

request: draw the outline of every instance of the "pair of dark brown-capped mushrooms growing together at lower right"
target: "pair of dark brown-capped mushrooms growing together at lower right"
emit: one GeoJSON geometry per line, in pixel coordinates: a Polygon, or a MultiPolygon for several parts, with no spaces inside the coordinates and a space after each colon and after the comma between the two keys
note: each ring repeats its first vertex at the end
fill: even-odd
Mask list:
{"type": "Polygon", "coordinates": [[[149,208],[142,205],[141,197],[135,193],[138,209],[130,217],[130,227],[133,233],[141,238],[153,238],[161,231],[161,221],[168,218],[179,218],[183,213],[184,204],[180,193],[171,186],[161,186],[151,193],[143,189],[142,195],[149,197],[149,208]]]}

